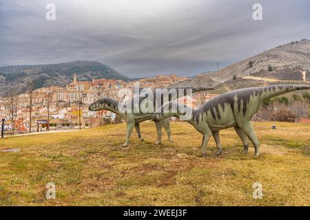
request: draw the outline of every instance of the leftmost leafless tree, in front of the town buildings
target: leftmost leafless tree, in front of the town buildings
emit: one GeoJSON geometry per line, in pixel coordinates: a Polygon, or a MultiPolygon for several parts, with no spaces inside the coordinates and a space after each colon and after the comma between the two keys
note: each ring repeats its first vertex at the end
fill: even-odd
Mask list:
{"type": "Polygon", "coordinates": [[[17,119],[17,109],[20,104],[19,94],[17,89],[10,89],[3,100],[3,105],[11,121],[12,133],[15,133],[15,120],[17,119]]]}

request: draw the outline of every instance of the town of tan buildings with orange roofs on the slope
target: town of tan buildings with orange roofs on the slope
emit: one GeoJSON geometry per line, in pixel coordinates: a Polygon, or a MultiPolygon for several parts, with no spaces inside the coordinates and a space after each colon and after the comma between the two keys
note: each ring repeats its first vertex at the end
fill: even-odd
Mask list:
{"type": "MultiPolygon", "coordinates": [[[[118,91],[132,89],[134,83],[139,83],[140,87],[164,88],[186,79],[170,74],[127,82],[106,78],[79,81],[77,74],[74,74],[72,82],[65,87],[42,87],[19,94],[16,98],[2,97],[0,117],[5,120],[3,131],[12,134],[99,126],[115,120],[116,115],[105,110],[89,111],[88,105],[95,100],[101,97],[120,100],[118,91]],[[14,101],[16,109],[11,106],[14,101]]],[[[204,99],[210,98],[208,94],[203,96],[204,99]]],[[[192,99],[192,105],[196,106],[195,98],[192,99]]]]}

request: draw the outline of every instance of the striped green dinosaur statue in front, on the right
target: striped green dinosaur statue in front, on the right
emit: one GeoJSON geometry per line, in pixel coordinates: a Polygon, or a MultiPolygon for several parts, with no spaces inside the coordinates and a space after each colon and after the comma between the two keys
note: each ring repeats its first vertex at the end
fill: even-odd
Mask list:
{"type": "MultiPolygon", "coordinates": [[[[203,134],[203,144],[201,146],[203,156],[206,155],[207,142],[211,135],[213,135],[218,148],[216,155],[220,155],[222,148],[220,146],[219,131],[234,127],[243,142],[244,153],[247,153],[249,148],[247,139],[249,137],[249,140],[254,144],[254,156],[258,157],[260,153],[259,142],[254,133],[251,118],[258,112],[264,100],[301,89],[310,89],[310,86],[271,85],[268,87],[238,89],[212,98],[205,102],[202,107],[190,109],[192,110],[192,115],[187,122],[203,134]]],[[[179,110],[184,109],[184,106],[181,107],[180,104],[176,104],[176,112],[171,112],[173,104],[176,104],[176,102],[167,102],[160,109],[157,109],[152,120],[158,122],[167,120],[170,116],[180,117],[180,115],[185,115],[184,111],[179,110]],[[165,113],[165,108],[170,111],[165,113]]]]}

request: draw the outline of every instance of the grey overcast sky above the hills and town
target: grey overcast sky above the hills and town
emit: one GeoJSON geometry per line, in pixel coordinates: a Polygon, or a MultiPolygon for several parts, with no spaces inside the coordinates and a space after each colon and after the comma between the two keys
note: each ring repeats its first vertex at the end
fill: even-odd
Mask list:
{"type": "Polygon", "coordinates": [[[193,76],[309,39],[309,9],[308,0],[1,0],[0,66],[90,60],[129,77],[193,76]]]}

